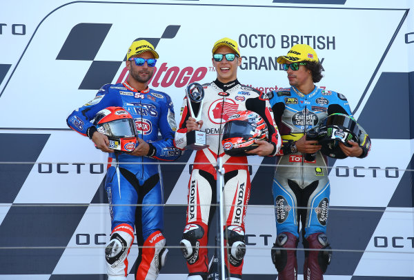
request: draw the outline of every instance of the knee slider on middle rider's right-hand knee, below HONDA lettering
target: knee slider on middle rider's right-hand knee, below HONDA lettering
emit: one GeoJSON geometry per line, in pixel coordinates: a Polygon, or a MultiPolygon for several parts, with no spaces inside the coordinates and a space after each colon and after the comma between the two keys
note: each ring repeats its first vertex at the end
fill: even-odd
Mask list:
{"type": "Polygon", "coordinates": [[[242,264],[244,255],[246,254],[246,243],[244,241],[244,230],[239,226],[229,226],[227,228],[227,249],[228,261],[233,266],[240,266],[242,264]]]}

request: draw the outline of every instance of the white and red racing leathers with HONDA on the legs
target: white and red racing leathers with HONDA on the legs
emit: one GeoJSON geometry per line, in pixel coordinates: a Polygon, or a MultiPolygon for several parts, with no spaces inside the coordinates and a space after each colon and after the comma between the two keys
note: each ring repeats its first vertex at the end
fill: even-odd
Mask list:
{"type": "MultiPolygon", "coordinates": [[[[228,118],[239,110],[257,112],[268,126],[269,139],[273,144],[275,156],[281,142],[277,126],[273,119],[273,112],[266,94],[243,86],[237,81],[221,83],[217,79],[206,83],[204,88],[204,103],[201,109],[203,126],[201,131],[206,132],[208,148],[198,150],[195,155],[193,171],[188,183],[188,208],[186,228],[184,228],[183,248],[187,260],[188,279],[206,279],[208,274],[208,228],[216,203],[216,170],[217,157],[221,157],[225,168],[224,174],[224,246],[229,246],[225,254],[225,261],[230,270],[231,279],[242,278],[243,257],[246,252],[244,243],[244,219],[246,207],[250,197],[250,174],[246,157],[230,157],[224,153],[221,139],[224,124],[228,118]],[[233,164],[232,164],[233,163],[233,164]]],[[[190,117],[187,107],[187,97],[181,108],[179,130],[175,133],[175,146],[183,149],[187,146],[186,120],[190,117]]]]}

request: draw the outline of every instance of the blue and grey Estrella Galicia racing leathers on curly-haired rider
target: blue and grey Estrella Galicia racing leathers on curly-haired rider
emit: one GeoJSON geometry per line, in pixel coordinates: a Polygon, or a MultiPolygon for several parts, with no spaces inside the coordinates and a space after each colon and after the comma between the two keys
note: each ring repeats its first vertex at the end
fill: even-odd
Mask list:
{"type": "MultiPolygon", "coordinates": [[[[292,86],[268,92],[268,98],[283,139],[273,180],[277,237],[272,260],[278,279],[297,279],[296,251],[286,248],[297,247],[301,221],[304,248],[314,249],[305,251],[304,279],[320,280],[331,261],[325,235],[330,194],[327,159],[319,150],[315,160],[306,161],[305,154],[297,152],[295,141],[330,114],[352,116],[351,108],[344,95],[316,86],[309,94],[292,86]]],[[[368,155],[370,146],[366,135],[360,158],[368,155]]]]}

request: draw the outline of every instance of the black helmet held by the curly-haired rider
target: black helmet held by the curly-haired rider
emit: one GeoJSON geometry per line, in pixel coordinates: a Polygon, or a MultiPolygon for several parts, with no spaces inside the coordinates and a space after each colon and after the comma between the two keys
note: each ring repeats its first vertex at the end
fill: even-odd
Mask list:
{"type": "Polygon", "coordinates": [[[334,159],[345,159],[346,155],[339,147],[339,142],[350,147],[348,140],[361,144],[366,133],[357,121],[347,114],[330,114],[317,128],[322,154],[334,159]]]}

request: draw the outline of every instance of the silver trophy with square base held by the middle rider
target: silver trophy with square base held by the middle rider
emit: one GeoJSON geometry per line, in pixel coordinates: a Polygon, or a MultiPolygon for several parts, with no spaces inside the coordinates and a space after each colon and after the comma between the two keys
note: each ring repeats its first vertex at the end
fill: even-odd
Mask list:
{"type": "MultiPolygon", "coordinates": [[[[204,88],[199,83],[190,83],[186,88],[187,108],[190,111],[190,116],[199,121],[201,119],[201,110],[203,108],[204,88]]],[[[207,148],[206,132],[193,130],[187,132],[187,146],[188,150],[202,150],[207,148]]]]}

